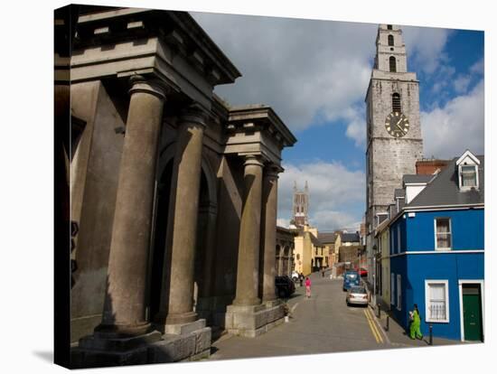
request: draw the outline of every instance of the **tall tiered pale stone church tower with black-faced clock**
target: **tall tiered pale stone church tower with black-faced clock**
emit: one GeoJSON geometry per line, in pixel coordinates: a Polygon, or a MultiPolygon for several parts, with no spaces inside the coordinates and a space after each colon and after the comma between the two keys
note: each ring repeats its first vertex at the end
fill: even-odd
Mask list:
{"type": "Polygon", "coordinates": [[[380,24],[376,56],[366,95],[366,245],[372,247],[373,231],[386,217],[402,175],[416,173],[422,157],[419,123],[419,82],[408,71],[402,30],[380,24]]]}

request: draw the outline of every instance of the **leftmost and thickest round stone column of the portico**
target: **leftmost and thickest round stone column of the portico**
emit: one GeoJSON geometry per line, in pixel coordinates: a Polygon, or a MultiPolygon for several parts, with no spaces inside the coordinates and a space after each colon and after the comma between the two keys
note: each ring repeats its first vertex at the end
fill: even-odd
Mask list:
{"type": "Polygon", "coordinates": [[[135,76],[131,82],[107,295],[102,323],[95,330],[111,336],[140,335],[150,328],[145,315],[145,284],[165,91],[156,80],[135,76]]]}

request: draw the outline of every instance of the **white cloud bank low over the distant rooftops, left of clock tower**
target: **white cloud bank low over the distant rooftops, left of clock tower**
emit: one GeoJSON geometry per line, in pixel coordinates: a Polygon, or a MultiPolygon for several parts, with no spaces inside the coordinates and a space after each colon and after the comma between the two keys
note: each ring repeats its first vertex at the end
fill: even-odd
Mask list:
{"type": "Polygon", "coordinates": [[[284,164],[278,186],[278,219],[289,220],[294,182],[302,189],[309,184],[310,223],[320,230],[350,228],[361,220],[364,205],[364,173],[351,171],[340,163],[316,161],[312,164],[284,164]],[[352,213],[353,207],[360,212],[352,213]]]}

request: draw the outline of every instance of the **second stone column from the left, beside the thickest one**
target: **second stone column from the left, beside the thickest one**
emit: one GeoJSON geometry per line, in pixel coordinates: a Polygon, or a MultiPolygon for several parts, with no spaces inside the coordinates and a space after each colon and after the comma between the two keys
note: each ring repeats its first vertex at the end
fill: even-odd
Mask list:
{"type": "Polygon", "coordinates": [[[173,164],[177,185],[173,188],[171,281],[166,324],[191,323],[197,319],[197,313],[193,312],[193,271],[205,120],[205,110],[193,105],[183,111],[178,121],[173,164]]]}

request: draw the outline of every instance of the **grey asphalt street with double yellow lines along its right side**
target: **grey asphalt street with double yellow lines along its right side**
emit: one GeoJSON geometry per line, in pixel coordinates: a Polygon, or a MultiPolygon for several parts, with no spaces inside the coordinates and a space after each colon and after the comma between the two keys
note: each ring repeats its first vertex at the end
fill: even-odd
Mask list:
{"type": "Polygon", "coordinates": [[[288,300],[292,318],[258,338],[226,335],[212,344],[210,360],[389,348],[370,308],[348,307],[342,281],[314,274],[312,297],[297,287],[288,300]]]}

